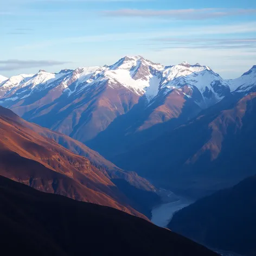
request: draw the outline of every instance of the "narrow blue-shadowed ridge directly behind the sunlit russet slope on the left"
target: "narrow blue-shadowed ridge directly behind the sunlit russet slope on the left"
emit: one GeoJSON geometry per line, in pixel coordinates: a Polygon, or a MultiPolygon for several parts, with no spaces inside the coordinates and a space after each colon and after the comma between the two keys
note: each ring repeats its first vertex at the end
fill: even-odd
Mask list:
{"type": "MultiPolygon", "coordinates": [[[[118,187],[118,189],[122,193],[124,193],[126,197],[130,199],[130,203],[132,204],[133,208],[145,214],[146,216],[150,217],[151,208],[155,206],[155,204],[158,204],[160,202],[160,197],[155,193],[156,188],[149,181],[147,181],[145,178],[138,176],[136,172],[121,170],[110,161],[107,161],[98,152],[95,152],[89,149],[86,145],[82,144],[81,142],[78,142],[75,139],[72,139],[66,135],[63,135],[62,133],[51,131],[39,125],[29,123],[28,121],[25,121],[24,119],[18,117],[11,110],[8,110],[7,108],[0,106],[0,123],[1,123],[1,116],[2,116],[2,119],[4,119],[5,122],[9,123],[10,125],[14,125],[18,127],[18,129],[20,130],[21,129],[26,130],[26,132],[29,133],[29,135],[32,135],[31,137],[40,138],[40,143],[41,141],[44,141],[44,145],[46,145],[45,142],[48,140],[51,143],[50,145],[48,144],[48,148],[53,148],[54,145],[57,145],[57,148],[60,149],[62,148],[60,145],[62,145],[66,149],[72,151],[74,154],[78,154],[80,156],[86,157],[87,158],[86,161],[89,160],[91,164],[91,165],[90,164],[88,165],[92,167],[94,172],[95,170],[97,172],[99,171],[101,172],[101,174],[99,174],[99,177],[101,177],[103,174],[105,176],[105,179],[107,179],[108,181],[110,180],[112,185],[116,185],[116,187],[118,187]],[[43,137],[49,138],[50,140],[43,137]],[[55,140],[56,143],[53,142],[53,140],[55,140]]],[[[8,129],[5,129],[5,130],[8,130],[8,129]]],[[[16,130],[13,132],[15,133],[16,130]]],[[[37,139],[36,143],[38,143],[38,141],[39,140],[37,139]]],[[[22,147],[23,145],[21,145],[21,148],[22,147]]],[[[36,150],[36,149],[33,149],[33,150],[36,150]]],[[[54,151],[56,151],[56,149],[54,151]]],[[[74,155],[65,149],[64,149],[64,152],[66,155],[67,155],[67,152],[68,152],[68,155],[74,155]]],[[[63,155],[63,153],[61,153],[61,155],[63,155]]],[[[39,156],[40,156],[40,153],[39,153],[39,156]]],[[[78,157],[78,158],[81,159],[81,157],[78,157]]],[[[69,163],[67,163],[67,167],[68,166],[69,166],[69,163]]],[[[101,182],[99,180],[99,177],[96,178],[96,181],[97,183],[100,184],[101,182]]],[[[108,205],[108,204],[104,204],[104,205],[108,205]]]]}

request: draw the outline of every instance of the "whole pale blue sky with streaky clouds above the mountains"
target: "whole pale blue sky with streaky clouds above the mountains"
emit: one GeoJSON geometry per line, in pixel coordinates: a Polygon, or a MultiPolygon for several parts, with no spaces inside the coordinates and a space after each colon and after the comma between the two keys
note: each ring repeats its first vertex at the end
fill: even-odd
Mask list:
{"type": "Polygon", "coordinates": [[[256,1],[1,0],[0,74],[143,55],[235,78],[256,65],[256,1]]]}

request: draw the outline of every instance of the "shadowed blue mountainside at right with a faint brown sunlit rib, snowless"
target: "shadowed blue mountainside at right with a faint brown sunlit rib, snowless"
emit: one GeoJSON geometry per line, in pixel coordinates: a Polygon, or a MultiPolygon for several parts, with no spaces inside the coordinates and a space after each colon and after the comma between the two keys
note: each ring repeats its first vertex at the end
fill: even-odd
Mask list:
{"type": "Polygon", "coordinates": [[[233,93],[194,120],[112,160],[193,197],[230,187],[256,174],[256,93],[244,95],[233,93]]]}

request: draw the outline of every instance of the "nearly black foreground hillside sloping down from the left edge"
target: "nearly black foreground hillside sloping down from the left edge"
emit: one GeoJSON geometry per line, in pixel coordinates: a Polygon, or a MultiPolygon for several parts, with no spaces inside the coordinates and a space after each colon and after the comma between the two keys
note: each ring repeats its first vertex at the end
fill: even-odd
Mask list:
{"type": "Polygon", "coordinates": [[[119,210],[42,193],[0,176],[1,251],[9,255],[214,256],[119,210]]]}

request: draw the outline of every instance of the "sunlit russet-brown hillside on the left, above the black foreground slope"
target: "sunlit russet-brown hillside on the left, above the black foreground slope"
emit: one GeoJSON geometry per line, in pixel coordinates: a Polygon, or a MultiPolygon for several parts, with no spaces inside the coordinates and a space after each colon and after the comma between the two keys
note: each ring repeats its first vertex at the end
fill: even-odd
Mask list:
{"type": "Polygon", "coordinates": [[[128,199],[104,170],[94,167],[87,158],[75,155],[53,139],[42,137],[21,125],[10,117],[11,114],[16,117],[10,110],[1,108],[1,112],[1,175],[41,191],[143,217],[132,207],[138,202],[128,199]]]}

